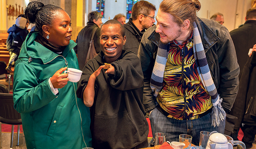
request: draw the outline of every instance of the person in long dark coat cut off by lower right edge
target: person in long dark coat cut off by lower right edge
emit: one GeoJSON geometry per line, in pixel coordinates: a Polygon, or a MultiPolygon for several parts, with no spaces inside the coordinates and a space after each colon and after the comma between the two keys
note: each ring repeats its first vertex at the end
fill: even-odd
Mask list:
{"type": "Polygon", "coordinates": [[[245,143],[246,148],[253,147],[256,135],[256,44],[253,46],[253,51],[253,54],[243,66],[239,91],[230,111],[232,116],[238,118],[232,138],[238,140],[237,133],[241,128],[243,131],[242,142],[245,143]]]}

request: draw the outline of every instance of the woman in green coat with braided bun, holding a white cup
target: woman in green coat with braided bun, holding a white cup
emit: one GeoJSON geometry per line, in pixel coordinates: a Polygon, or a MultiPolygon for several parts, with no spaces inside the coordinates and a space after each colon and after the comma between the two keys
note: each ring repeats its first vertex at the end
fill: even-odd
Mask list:
{"type": "Polygon", "coordinates": [[[23,42],[14,70],[14,108],[22,116],[27,148],[90,147],[89,108],[63,72],[79,69],[71,19],[62,8],[41,2],[30,2],[24,12],[38,30],[23,42]]]}

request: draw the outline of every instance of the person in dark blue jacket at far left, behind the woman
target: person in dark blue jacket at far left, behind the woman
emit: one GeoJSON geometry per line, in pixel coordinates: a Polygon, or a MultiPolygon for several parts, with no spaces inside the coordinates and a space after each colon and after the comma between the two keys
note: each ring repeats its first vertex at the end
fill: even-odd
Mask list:
{"type": "Polygon", "coordinates": [[[28,35],[27,27],[29,23],[25,18],[24,14],[21,14],[17,17],[15,24],[8,29],[8,38],[6,40],[6,48],[10,52],[9,63],[6,67],[7,71],[11,71],[11,66],[13,62],[19,56],[20,48],[23,44],[23,41],[28,35]]]}

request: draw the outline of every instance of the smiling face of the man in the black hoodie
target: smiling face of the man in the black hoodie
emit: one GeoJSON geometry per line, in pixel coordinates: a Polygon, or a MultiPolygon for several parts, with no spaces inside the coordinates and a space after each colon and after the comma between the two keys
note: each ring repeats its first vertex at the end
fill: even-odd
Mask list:
{"type": "Polygon", "coordinates": [[[126,36],[121,35],[121,24],[105,24],[101,27],[100,45],[108,63],[114,62],[122,53],[126,36]]]}

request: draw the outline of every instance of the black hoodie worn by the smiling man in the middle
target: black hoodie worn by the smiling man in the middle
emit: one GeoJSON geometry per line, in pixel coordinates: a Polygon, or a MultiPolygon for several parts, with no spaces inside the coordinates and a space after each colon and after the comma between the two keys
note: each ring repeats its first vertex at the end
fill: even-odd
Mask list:
{"type": "MultiPolygon", "coordinates": [[[[102,51],[86,63],[77,88],[78,97],[82,98],[90,75],[104,63],[102,51]]],[[[90,107],[92,147],[133,148],[147,141],[148,135],[141,63],[135,53],[123,50],[111,65],[115,74],[105,74],[102,69],[94,85],[94,103],[90,107]]]]}

